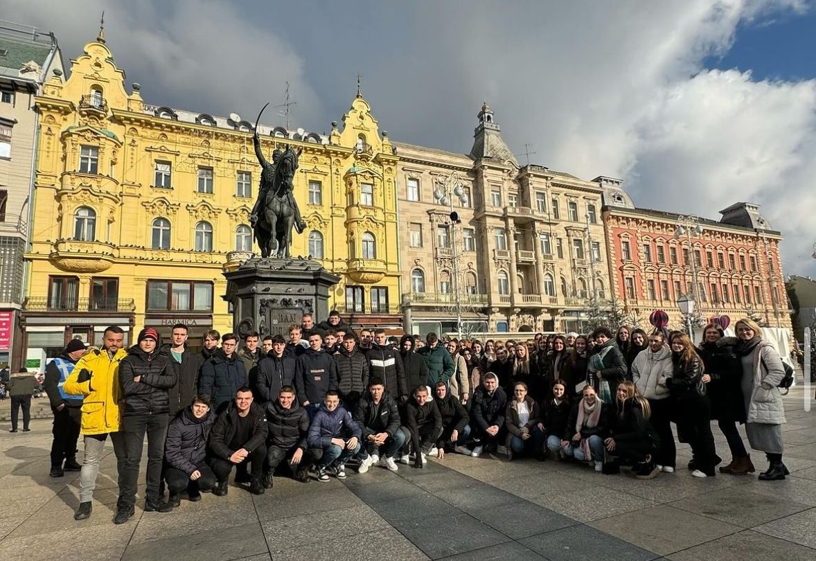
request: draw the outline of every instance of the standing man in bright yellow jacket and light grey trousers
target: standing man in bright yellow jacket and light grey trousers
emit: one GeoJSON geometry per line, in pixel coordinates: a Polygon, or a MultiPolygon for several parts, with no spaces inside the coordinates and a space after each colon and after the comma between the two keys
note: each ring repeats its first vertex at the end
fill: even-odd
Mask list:
{"type": "Polygon", "coordinates": [[[81,431],[85,442],[85,459],[79,475],[79,508],[73,515],[76,520],[91,516],[91,498],[108,435],[113,442],[119,488],[122,488],[126,448],[124,433],[119,431],[119,401],[122,399],[119,363],[127,356],[122,349],[124,338],[125,332],[118,325],[105,329],[102,348],[82,356],[63,386],[66,394],[82,395],[84,398],[81,431]]]}

